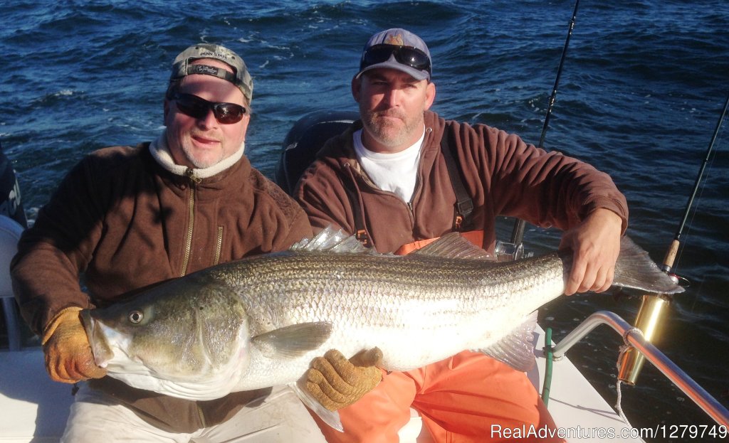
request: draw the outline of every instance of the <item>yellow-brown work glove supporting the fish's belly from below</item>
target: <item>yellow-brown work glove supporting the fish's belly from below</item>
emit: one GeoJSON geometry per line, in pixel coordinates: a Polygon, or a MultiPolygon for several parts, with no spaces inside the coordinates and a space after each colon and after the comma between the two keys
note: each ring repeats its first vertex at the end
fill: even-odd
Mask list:
{"type": "Polygon", "coordinates": [[[306,391],[330,411],[349,406],[380,383],[381,361],[379,348],[362,350],[349,360],[338,350],[328,350],[306,372],[306,391]]]}

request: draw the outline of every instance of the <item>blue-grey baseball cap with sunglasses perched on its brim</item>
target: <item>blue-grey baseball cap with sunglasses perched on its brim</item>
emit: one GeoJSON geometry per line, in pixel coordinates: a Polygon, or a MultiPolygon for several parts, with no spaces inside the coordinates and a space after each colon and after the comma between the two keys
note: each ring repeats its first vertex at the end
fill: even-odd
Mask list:
{"type": "Polygon", "coordinates": [[[416,34],[402,28],[387,29],[367,40],[356,77],[376,68],[397,69],[410,74],[414,79],[430,81],[430,51],[423,39],[416,34]]]}

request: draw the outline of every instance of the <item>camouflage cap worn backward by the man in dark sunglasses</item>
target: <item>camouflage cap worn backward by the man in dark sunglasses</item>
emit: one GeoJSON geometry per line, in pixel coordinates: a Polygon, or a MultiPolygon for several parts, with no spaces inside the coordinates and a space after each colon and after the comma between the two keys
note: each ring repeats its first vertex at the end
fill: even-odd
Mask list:
{"type": "Polygon", "coordinates": [[[182,77],[191,74],[205,74],[227,80],[237,86],[248,103],[251,103],[253,98],[253,79],[251,79],[251,74],[248,73],[246,62],[243,61],[240,55],[227,49],[227,47],[219,44],[198,43],[180,52],[174,62],[172,62],[170,82],[182,79],[182,77]],[[230,74],[229,71],[215,66],[190,64],[193,60],[200,58],[220,60],[233,68],[234,74],[230,74]]]}

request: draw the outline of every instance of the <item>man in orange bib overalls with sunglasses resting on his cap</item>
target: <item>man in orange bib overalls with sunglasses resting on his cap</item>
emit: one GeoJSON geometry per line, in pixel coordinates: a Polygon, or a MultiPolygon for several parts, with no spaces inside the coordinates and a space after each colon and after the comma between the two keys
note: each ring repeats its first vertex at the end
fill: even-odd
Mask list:
{"type": "MultiPolygon", "coordinates": [[[[574,251],[566,294],[607,289],[628,214],[609,176],[502,130],[438,117],[428,110],[431,74],[415,34],[394,28],[365,44],[351,82],[361,119],[327,142],[295,191],[314,230],[341,227],[381,253],[461,231],[494,256],[496,216],[515,216],[566,231],[561,247],[574,251]]],[[[321,396],[332,392],[319,384],[321,396]]],[[[410,407],[437,442],[500,441],[495,425],[555,426],[523,372],[470,351],[383,374],[346,406],[354,400],[340,403],[345,434],[320,426],[327,441],[397,442],[410,407]]]]}

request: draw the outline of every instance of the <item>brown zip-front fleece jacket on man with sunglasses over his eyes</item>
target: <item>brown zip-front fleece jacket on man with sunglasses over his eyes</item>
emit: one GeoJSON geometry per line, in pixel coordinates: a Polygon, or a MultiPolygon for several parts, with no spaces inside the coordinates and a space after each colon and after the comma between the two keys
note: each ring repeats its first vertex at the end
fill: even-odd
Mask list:
{"type": "MultiPolygon", "coordinates": [[[[246,157],[193,181],[160,167],[149,144],[117,146],[79,162],[23,233],[11,264],[13,289],[24,318],[40,334],[65,307],[109,305],[144,286],[281,251],[310,236],[299,205],[246,157]]],[[[91,385],[175,432],[226,420],[270,391],[196,402],[133,389],[110,377],[91,385]]]]}

